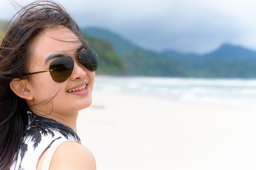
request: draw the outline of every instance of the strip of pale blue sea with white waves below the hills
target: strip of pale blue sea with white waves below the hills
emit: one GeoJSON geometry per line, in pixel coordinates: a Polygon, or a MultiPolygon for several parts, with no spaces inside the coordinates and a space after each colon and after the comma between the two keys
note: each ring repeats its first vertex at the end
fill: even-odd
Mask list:
{"type": "Polygon", "coordinates": [[[94,89],[175,101],[256,108],[256,79],[96,76],[94,89]]]}

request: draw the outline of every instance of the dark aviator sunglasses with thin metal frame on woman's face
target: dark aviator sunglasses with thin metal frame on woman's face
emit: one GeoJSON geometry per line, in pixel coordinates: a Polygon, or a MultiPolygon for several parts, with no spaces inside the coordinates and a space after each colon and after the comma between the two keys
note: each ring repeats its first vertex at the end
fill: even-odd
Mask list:
{"type": "MultiPolygon", "coordinates": [[[[96,71],[98,67],[98,57],[93,49],[86,49],[78,53],[78,61],[88,70],[96,71]]],[[[74,69],[74,59],[70,56],[63,56],[53,60],[49,69],[44,71],[32,72],[26,75],[50,72],[52,79],[57,83],[66,81],[74,69]]]]}

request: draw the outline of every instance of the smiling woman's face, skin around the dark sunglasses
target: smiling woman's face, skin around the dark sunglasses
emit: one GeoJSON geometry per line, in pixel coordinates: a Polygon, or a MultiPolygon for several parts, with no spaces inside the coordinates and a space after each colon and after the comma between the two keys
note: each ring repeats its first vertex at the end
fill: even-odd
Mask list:
{"type": "Polygon", "coordinates": [[[27,102],[28,105],[35,105],[30,108],[32,111],[43,115],[51,113],[52,116],[58,117],[77,113],[91,104],[95,72],[78,64],[75,54],[81,46],[78,37],[63,26],[46,29],[33,40],[29,72],[48,70],[50,63],[56,58],[50,60],[47,58],[55,54],[71,56],[75,62],[72,74],[63,83],[55,82],[50,72],[31,75],[29,82],[34,98],[27,102]],[[85,85],[86,88],[82,90],[69,92],[71,89],[85,85]],[[52,101],[49,102],[50,99],[52,101]]]}

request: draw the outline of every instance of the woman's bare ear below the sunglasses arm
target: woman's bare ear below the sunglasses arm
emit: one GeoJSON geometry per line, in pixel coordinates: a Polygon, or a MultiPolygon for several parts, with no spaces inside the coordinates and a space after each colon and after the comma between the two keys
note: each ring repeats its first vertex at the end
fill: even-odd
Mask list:
{"type": "Polygon", "coordinates": [[[20,98],[29,101],[34,99],[30,90],[30,84],[27,80],[16,78],[13,79],[9,85],[12,91],[20,98]]]}

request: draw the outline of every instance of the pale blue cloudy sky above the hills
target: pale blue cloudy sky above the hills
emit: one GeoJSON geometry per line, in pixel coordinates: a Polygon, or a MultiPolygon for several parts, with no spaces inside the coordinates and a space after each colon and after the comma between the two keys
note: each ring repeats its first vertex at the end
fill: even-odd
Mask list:
{"type": "MultiPolygon", "coordinates": [[[[12,1],[0,0],[0,19],[15,14],[12,1]]],[[[104,28],[152,51],[202,54],[223,43],[256,50],[256,0],[56,1],[80,27],[104,28]]]]}

